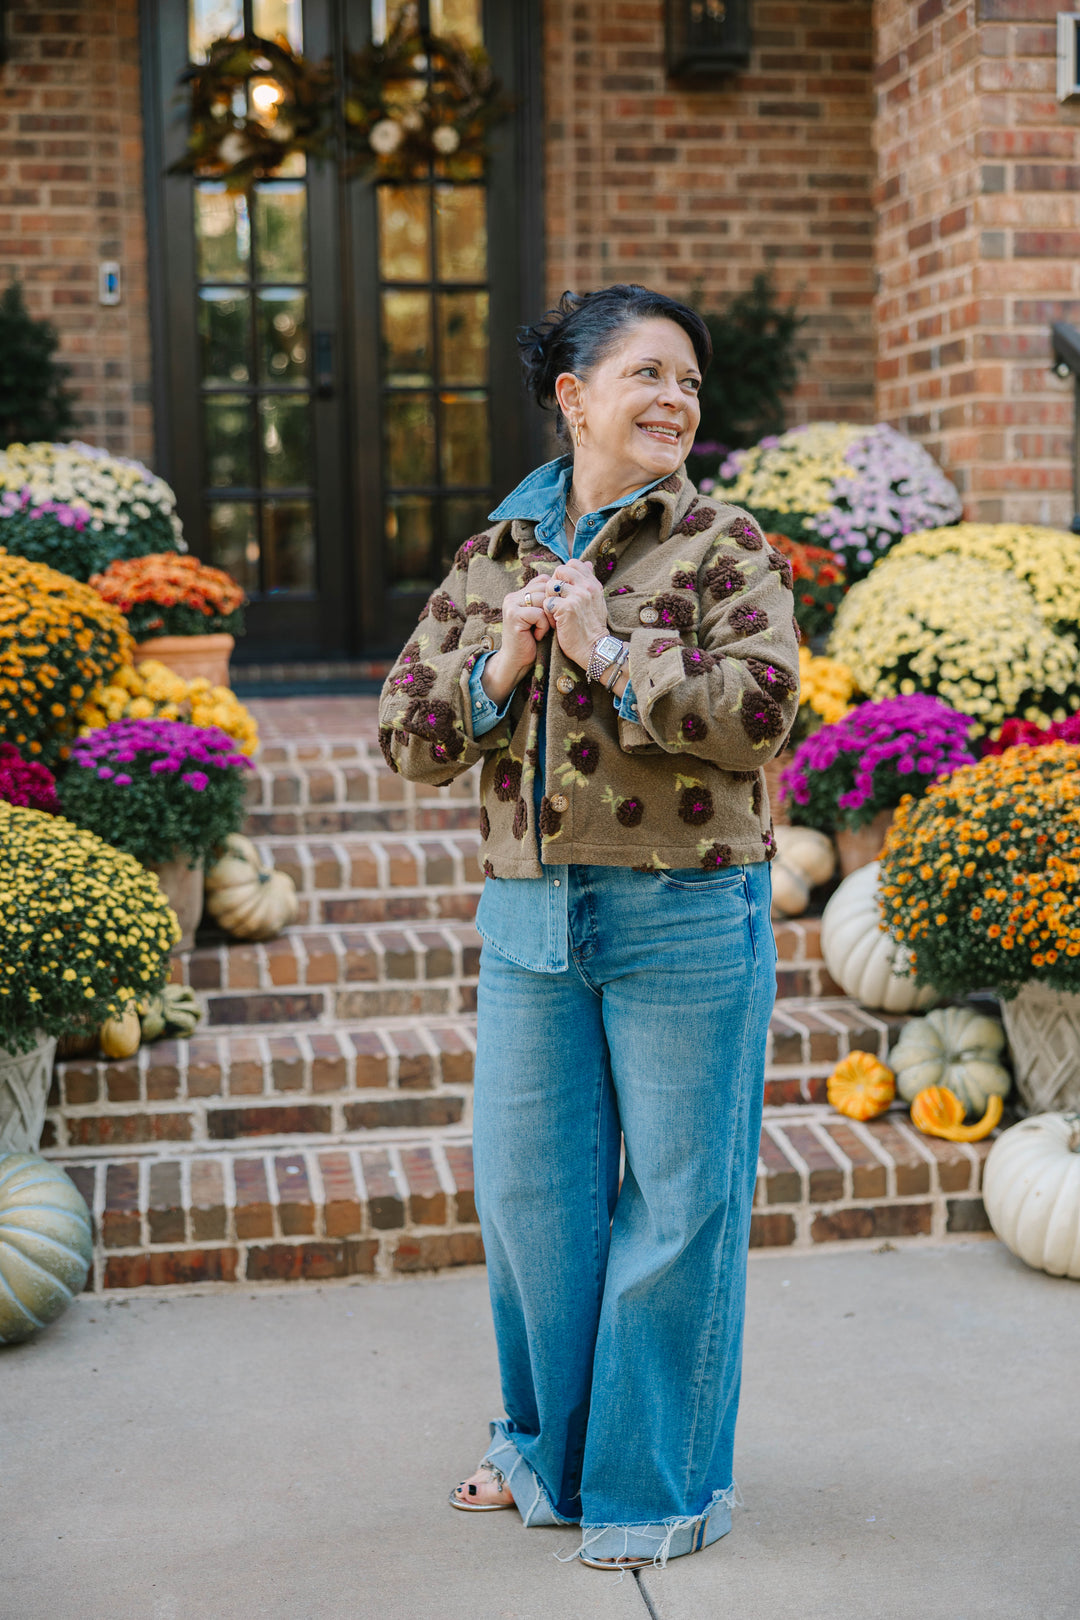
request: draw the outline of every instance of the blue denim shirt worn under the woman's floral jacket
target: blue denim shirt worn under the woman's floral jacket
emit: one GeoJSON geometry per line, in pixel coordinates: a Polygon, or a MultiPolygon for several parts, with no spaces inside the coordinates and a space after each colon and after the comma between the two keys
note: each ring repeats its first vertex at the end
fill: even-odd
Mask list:
{"type": "MultiPolygon", "coordinates": [[[[643,484],[631,489],[622,501],[612,501],[599,512],[586,512],[575,526],[570,549],[567,549],[567,494],[573,476],[573,460],[568,455],[547,462],[529,473],[507,499],[495,507],[489,522],[499,523],[504,518],[528,518],[536,523],[536,539],[547,546],[557,557],[568,562],[570,557],[581,556],[593,536],[604,526],[612,512],[630,505],[661,483],[643,484]]],[[[483,737],[486,731],[497,726],[507,713],[510,698],[499,708],[492,703],[481,685],[484,664],[491,658],[486,653],[473,667],[470,679],[470,703],[473,705],[473,734],[483,737]]],[[[638,719],[638,708],[633,687],[627,682],[622,698],[617,700],[619,713],[623,719],[638,719]]],[[[536,804],[544,794],[544,723],[539,727],[541,758],[536,771],[533,792],[536,804]]],[[[541,857],[542,860],[542,857],[541,857]]],[[[518,967],[529,967],[536,974],[562,974],[567,970],[567,867],[544,867],[544,876],[538,883],[534,878],[497,878],[484,883],[476,927],[481,936],[500,956],[518,967]]]]}

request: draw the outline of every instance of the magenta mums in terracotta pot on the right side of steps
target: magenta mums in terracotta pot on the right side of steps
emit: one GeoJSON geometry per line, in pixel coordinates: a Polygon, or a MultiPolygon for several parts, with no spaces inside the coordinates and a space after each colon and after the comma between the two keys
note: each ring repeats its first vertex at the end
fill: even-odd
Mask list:
{"type": "Polygon", "coordinates": [[[789,816],[836,836],[847,876],[878,859],[905,794],[975,765],[970,731],[970,716],[921,693],[863,703],[800,742],[780,779],[789,816]]]}

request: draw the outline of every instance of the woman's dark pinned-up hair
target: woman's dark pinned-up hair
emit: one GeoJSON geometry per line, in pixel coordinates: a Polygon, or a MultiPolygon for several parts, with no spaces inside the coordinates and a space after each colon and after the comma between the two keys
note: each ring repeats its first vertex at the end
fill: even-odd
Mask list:
{"type": "MultiPolygon", "coordinates": [[[[565,292],[539,321],[518,327],[525,387],[542,410],[557,410],[555,379],[563,371],[586,377],[614,348],[622,330],[656,318],[674,321],[683,329],[704,376],[712,360],[712,339],[698,311],[665,293],[638,287],[636,282],[614,282],[594,293],[565,292]]],[[[560,437],[567,437],[562,411],[557,431],[560,437]]]]}

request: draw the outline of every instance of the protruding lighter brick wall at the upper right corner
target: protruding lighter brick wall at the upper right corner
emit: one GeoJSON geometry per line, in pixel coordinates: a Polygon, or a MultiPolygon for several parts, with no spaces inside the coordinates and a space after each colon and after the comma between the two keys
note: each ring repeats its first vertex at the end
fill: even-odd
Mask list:
{"type": "Polygon", "coordinates": [[[988,522],[1072,518],[1080,107],[1054,97],[1057,0],[879,0],[878,415],[988,522]]]}

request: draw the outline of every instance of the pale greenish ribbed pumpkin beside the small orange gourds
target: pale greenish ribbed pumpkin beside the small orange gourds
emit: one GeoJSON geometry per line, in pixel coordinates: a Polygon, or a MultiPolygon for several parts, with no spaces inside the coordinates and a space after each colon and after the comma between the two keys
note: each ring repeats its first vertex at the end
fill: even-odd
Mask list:
{"type": "Polygon", "coordinates": [[[938,1008],[905,1024],[889,1063],[900,1097],[912,1103],[928,1085],[944,1085],[981,1118],[991,1097],[1007,1097],[1012,1085],[1001,1063],[1006,1032],[996,1017],[975,1008],[938,1008]]]}

